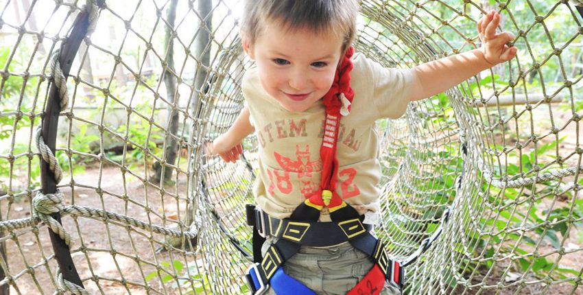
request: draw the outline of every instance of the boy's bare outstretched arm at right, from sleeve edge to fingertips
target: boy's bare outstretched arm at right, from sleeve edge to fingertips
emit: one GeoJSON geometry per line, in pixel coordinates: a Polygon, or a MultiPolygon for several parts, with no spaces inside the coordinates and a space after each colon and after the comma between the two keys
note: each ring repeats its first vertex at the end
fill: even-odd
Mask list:
{"type": "Polygon", "coordinates": [[[460,84],[473,75],[511,60],[516,47],[506,45],[514,39],[510,32],[496,32],[500,14],[490,11],[477,23],[482,46],[479,49],[440,58],[414,68],[414,86],[411,101],[431,97],[460,84]]]}

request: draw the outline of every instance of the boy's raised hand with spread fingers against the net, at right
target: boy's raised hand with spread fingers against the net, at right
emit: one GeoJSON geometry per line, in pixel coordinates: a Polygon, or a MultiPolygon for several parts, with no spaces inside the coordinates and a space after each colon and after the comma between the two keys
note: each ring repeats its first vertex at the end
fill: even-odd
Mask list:
{"type": "Polygon", "coordinates": [[[514,34],[510,32],[497,33],[496,28],[500,24],[500,14],[495,10],[488,12],[477,23],[478,36],[481,40],[481,50],[486,61],[492,66],[501,62],[512,60],[518,49],[507,45],[514,40],[514,34]]]}

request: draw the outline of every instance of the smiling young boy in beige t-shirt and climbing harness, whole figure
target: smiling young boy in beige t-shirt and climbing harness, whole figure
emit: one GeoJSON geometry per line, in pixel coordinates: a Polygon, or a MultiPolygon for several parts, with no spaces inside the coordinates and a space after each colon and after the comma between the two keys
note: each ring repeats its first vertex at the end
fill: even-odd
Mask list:
{"type": "MultiPolygon", "coordinates": [[[[383,270],[382,279],[370,283],[370,273],[377,265],[383,268],[382,259],[363,252],[366,246],[355,242],[363,236],[361,232],[370,231],[366,224],[380,219],[381,169],[374,122],[401,117],[409,102],[441,93],[516,55],[516,48],[506,45],[514,36],[496,32],[500,16],[492,11],[477,23],[481,48],[414,69],[386,69],[362,54],[353,55],[356,2],[246,1],[241,40],[257,67],[243,76],[246,105],[209,150],[224,161],[235,162],[243,152],[241,141],[255,132],[259,140],[259,174],[254,184],[261,209],[258,220],[270,220],[267,226],[287,222],[288,227],[311,222],[305,231],[301,226],[285,229],[287,237],[279,228],[267,231],[262,254],[281,256],[285,263],[276,263],[281,267],[271,272],[265,268],[272,261],[265,263],[264,258],[257,265],[263,267],[256,274],[259,279],[254,279],[260,287],[252,289],[267,289],[261,286],[269,283],[267,294],[280,295],[398,292],[384,283],[384,275],[392,277],[390,272],[397,273],[398,265],[383,270]],[[329,113],[332,109],[335,113],[329,113]],[[357,219],[338,217],[353,209],[357,219]],[[302,210],[316,210],[316,215],[297,213],[302,210]],[[344,231],[347,237],[340,243],[327,232],[311,233],[315,241],[303,241],[308,227],[324,222],[340,227],[355,222],[346,231],[362,231],[354,235],[344,231]],[[278,233],[269,235],[273,231],[278,233]],[[287,241],[294,232],[302,246],[287,241]],[[295,280],[292,285],[300,285],[276,283],[286,275],[295,280]]],[[[379,245],[373,245],[375,251],[379,245]]]]}

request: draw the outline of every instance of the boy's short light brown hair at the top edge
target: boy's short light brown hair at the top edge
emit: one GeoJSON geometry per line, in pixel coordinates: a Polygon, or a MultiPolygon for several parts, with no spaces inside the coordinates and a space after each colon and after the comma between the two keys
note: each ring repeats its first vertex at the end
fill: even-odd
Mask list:
{"type": "Polygon", "coordinates": [[[266,23],[280,21],[290,30],[343,36],[344,52],[355,38],[357,14],[356,0],[246,0],[241,34],[252,45],[266,23]]]}

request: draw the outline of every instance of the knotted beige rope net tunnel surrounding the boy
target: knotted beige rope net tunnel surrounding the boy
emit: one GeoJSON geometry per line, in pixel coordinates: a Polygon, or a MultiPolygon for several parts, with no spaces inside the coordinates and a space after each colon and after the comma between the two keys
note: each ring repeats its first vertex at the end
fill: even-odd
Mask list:
{"type": "MultiPolygon", "coordinates": [[[[479,46],[491,9],[519,48],[377,122],[376,232],[405,294],[583,294],[581,5],[361,1],[356,51],[386,67],[479,46]]],[[[243,106],[240,10],[1,1],[2,294],[248,292],[257,138],[204,153],[243,106]]]]}

